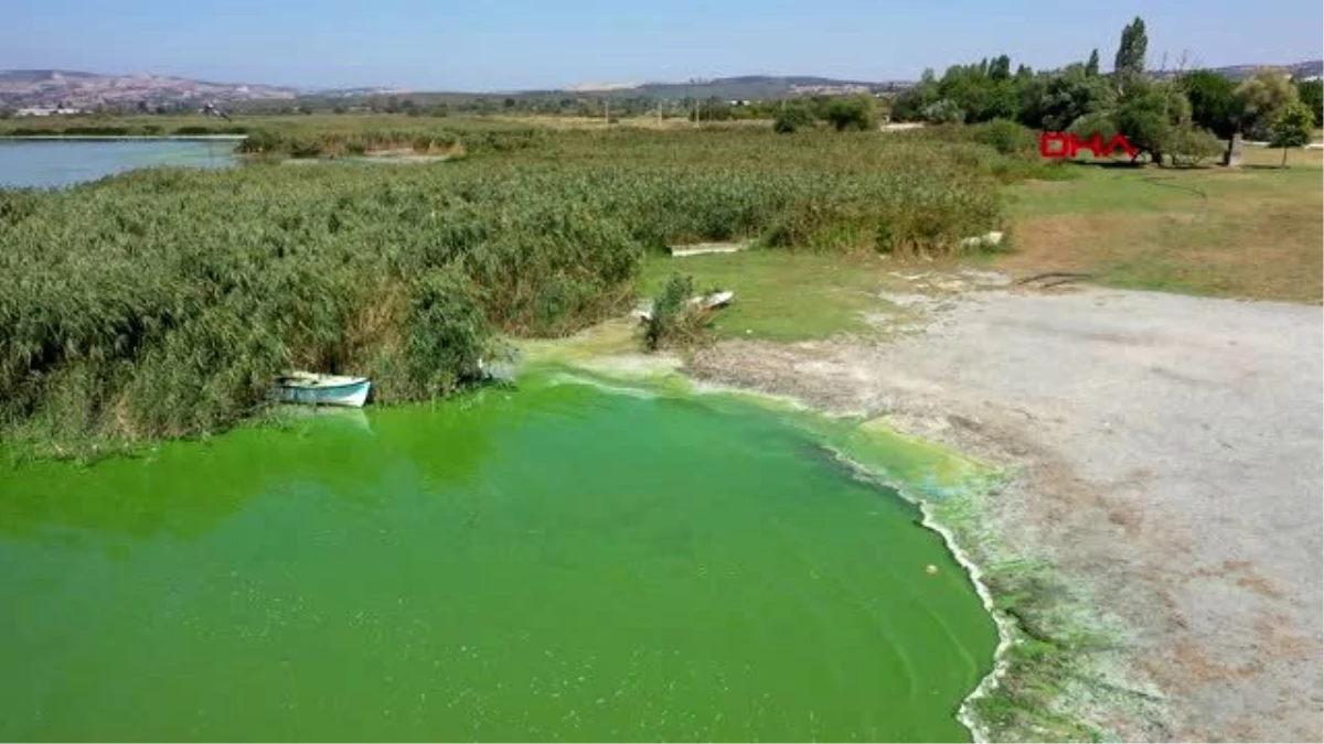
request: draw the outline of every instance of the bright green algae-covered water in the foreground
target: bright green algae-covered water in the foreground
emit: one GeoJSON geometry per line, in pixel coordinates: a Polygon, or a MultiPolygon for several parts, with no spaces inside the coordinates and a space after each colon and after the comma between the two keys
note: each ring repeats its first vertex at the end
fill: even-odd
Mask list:
{"type": "Polygon", "coordinates": [[[0,741],[968,740],[997,637],[940,537],[720,408],[527,385],[0,473],[0,741]]]}

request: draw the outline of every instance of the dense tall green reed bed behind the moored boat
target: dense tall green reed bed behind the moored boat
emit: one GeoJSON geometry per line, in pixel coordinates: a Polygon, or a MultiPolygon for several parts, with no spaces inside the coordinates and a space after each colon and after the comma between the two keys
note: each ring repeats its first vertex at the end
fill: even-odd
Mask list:
{"type": "Polygon", "coordinates": [[[945,254],[1002,225],[973,143],[475,130],[458,163],[147,171],[0,192],[0,429],[44,451],[224,429],[298,367],[445,395],[493,339],[620,312],[642,257],[945,254]],[[471,144],[470,144],[471,143],[471,144]]]}

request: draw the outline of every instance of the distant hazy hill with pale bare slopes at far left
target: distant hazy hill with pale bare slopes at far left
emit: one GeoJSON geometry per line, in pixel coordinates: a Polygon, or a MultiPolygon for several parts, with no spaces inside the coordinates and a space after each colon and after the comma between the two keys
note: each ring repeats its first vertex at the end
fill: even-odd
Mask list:
{"type": "Polygon", "coordinates": [[[0,106],[162,106],[294,98],[293,87],[208,82],[168,75],[103,75],[75,70],[0,70],[0,106]]]}

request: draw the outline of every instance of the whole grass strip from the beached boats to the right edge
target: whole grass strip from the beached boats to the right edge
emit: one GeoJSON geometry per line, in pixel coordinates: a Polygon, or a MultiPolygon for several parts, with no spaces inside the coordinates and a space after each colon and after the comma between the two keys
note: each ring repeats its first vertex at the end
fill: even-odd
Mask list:
{"type": "MultiPolygon", "coordinates": [[[[1280,151],[1259,150],[1280,158],[1280,151]]],[[[797,342],[878,334],[866,318],[899,308],[883,291],[912,291],[895,275],[959,263],[1017,277],[1080,271],[1106,286],[1186,294],[1324,301],[1324,152],[1294,151],[1294,167],[1241,171],[1080,165],[1078,179],[1006,187],[1013,249],[923,262],[878,256],[759,250],[667,258],[643,265],[642,291],[673,273],[696,289],[731,289],[718,338],[797,342]]]]}

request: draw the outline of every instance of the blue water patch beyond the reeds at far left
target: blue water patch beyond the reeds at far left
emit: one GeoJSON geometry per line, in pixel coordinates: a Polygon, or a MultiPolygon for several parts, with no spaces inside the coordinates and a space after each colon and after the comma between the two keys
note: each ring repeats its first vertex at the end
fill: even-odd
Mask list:
{"type": "Polygon", "coordinates": [[[66,187],[152,165],[222,168],[234,142],[0,142],[0,188],[66,187]]]}

